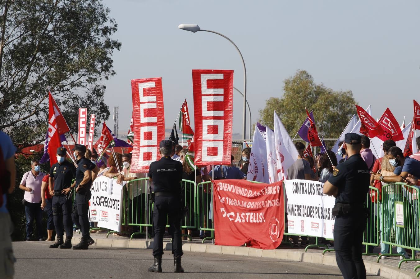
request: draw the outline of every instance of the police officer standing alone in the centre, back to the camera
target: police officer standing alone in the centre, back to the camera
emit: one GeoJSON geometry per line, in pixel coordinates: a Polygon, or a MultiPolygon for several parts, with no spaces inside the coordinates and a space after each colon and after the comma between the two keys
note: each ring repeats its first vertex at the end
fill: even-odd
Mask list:
{"type": "Polygon", "coordinates": [[[153,266],[147,271],[162,272],[163,233],[168,217],[169,233],[172,236],[173,272],[184,272],[181,266],[181,181],[182,164],[171,159],[173,142],[163,140],[159,144],[160,160],[152,162],[149,179],[155,185],[153,222],[155,238],[153,242],[153,266]]]}

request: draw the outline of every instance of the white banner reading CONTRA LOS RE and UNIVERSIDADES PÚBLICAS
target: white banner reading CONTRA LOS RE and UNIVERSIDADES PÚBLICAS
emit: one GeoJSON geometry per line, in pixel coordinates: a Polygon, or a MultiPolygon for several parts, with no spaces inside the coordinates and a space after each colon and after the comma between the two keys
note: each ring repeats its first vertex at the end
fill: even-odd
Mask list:
{"type": "Polygon", "coordinates": [[[333,238],[331,211],[336,199],[324,195],[323,183],[310,180],[285,180],[287,227],[289,233],[333,238]]]}

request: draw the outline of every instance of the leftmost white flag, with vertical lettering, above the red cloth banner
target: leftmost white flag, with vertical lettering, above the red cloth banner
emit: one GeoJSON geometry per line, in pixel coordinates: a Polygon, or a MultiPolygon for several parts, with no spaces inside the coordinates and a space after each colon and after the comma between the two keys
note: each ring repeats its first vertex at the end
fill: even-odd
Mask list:
{"type": "Polygon", "coordinates": [[[255,125],[254,138],[252,140],[247,180],[270,183],[267,169],[267,147],[257,125],[255,125]]]}

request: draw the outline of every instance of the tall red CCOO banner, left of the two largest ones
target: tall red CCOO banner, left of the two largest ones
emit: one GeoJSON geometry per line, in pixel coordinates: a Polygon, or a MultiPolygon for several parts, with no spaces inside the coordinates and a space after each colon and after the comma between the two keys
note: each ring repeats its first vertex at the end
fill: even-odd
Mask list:
{"type": "Polygon", "coordinates": [[[147,173],[165,139],[162,78],[131,80],[133,97],[133,158],[130,171],[147,173]]]}

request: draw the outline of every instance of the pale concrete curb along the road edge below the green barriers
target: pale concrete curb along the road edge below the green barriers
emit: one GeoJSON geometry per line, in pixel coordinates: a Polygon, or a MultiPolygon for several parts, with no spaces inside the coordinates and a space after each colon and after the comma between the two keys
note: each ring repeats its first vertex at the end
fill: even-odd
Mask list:
{"type": "MultiPolygon", "coordinates": [[[[91,235],[92,236],[92,235],[91,235]]],[[[71,240],[73,245],[79,243],[81,236],[76,235],[71,240]]],[[[131,249],[152,249],[153,240],[138,239],[112,239],[93,238],[95,248],[131,248],[131,249]]],[[[172,243],[164,242],[164,250],[172,250],[172,243]]],[[[213,244],[183,243],[182,250],[185,252],[213,253],[235,256],[250,256],[261,258],[277,258],[289,261],[301,261],[310,264],[325,264],[337,266],[336,257],[323,255],[322,253],[304,253],[288,249],[263,250],[249,247],[218,246],[213,244]]],[[[383,276],[388,279],[411,279],[415,278],[414,273],[406,273],[401,269],[390,268],[381,264],[365,262],[366,272],[373,275],[383,276]]]]}

